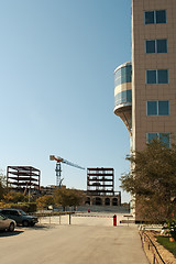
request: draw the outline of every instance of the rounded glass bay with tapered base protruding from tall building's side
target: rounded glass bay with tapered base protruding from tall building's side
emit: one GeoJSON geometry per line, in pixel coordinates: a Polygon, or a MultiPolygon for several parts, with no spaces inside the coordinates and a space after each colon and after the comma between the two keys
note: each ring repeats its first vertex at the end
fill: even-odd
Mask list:
{"type": "Polygon", "coordinates": [[[114,70],[114,113],[122,119],[130,135],[132,133],[132,66],[131,62],[114,70]]]}

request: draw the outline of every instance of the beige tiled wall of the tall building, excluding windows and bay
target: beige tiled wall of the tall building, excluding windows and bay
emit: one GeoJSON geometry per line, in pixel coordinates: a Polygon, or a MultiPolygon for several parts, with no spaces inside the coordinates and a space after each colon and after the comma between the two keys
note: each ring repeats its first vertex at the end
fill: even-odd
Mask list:
{"type": "Polygon", "coordinates": [[[176,133],[176,1],[132,0],[132,147],[148,133],[176,133]],[[145,12],[166,11],[166,23],[145,24],[145,12]],[[167,53],[146,53],[150,40],[166,40],[167,53]],[[146,84],[146,70],[167,69],[168,84],[146,84]],[[167,116],[147,116],[147,101],[168,101],[167,116]]]}

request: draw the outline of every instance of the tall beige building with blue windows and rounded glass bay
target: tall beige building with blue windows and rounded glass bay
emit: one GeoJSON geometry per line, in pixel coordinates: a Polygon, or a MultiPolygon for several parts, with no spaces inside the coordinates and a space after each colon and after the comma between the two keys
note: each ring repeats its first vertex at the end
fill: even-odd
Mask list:
{"type": "MultiPolygon", "coordinates": [[[[114,70],[114,113],[131,151],[176,134],[176,0],[132,0],[132,58],[114,70]]],[[[136,211],[138,219],[138,211],[136,211]]]]}

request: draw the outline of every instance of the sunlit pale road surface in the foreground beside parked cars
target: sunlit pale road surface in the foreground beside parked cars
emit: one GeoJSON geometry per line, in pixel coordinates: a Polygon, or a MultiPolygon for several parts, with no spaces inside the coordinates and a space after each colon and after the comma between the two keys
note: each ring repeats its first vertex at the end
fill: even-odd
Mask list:
{"type": "Polygon", "coordinates": [[[136,227],[42,223],[0,232],[0,263],[148,264],[136,227]]]}

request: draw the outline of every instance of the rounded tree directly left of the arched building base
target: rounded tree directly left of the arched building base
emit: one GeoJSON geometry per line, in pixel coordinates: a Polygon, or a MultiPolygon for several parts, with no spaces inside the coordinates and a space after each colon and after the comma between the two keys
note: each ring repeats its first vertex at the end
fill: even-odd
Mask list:
{"type": "Polygon", "coordinates": [[[65,207],[76,207],[81,204],[84,199],[84,194],[81,190],[76,189],[65,189],[65,188],[57,188],[54,194],[54,200],[56,205],[65,207]]]}

